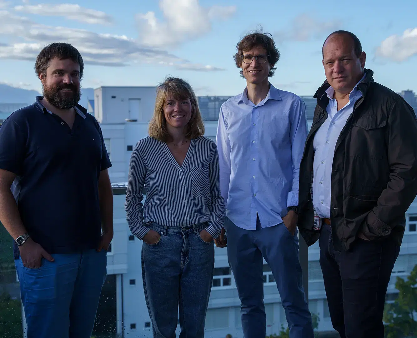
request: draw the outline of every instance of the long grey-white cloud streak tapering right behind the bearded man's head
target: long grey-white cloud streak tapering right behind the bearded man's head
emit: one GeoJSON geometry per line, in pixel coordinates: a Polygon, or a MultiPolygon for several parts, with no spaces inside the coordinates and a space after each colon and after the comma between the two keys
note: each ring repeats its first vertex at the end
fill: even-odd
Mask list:
{"type": "Polygon", "coordinates": [[[2,43],[0,59],[34,61],[47,44],[65,41],[77,48],[86,64],[122,67],[132,63],[157,63],[178,69],[216,71],[210,65],[191,63],[161,50],[138,43],[125,35],[94,33],[84,29],[52,27],[0,11],[0,34],[23,41],[2,43]]]}

